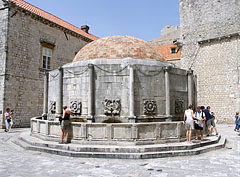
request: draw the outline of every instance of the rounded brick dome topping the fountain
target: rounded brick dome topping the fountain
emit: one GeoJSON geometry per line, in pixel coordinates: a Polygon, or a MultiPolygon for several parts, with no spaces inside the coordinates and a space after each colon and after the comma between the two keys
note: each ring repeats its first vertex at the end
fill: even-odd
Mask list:
{"type": "Polygon", "coordinates": [[[161,54],[148,42],[132,36],[108,36],[84,46],[75,61],[100,58],[135,58],[164,61],[161,54]]]}

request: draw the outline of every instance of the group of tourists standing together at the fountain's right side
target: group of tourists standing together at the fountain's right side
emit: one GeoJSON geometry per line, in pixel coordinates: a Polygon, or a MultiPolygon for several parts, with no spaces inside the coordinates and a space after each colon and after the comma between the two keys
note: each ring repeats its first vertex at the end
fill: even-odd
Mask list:
{"type": "Polygon", "coordinates": [[[201,141],[203,141],[203,130],[205,128],[207,128],[207,136],[212,135],[213,130],[215,130],[216,135],[218,135],[216,119],[214,113],[210,110],[210,106],[206,109],[204,106],[198,106],[197,111],[194,113],[193,106],[189,105],[188,109],[184,113],[184,124],[185,129],[187,130],[187,142],[189,143],[191,143],[192,131],[194,129],[196,131],[195,140],[198,140],[200,133],[201,141]]]}

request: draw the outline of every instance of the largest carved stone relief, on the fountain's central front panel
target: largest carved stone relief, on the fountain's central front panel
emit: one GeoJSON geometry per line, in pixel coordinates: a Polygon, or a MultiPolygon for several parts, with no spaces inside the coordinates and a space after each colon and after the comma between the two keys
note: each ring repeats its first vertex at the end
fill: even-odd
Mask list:
{"type": "Polygon", "coordinates": [[[104,101],[104,114],[105,115],[119,115],[121,111],[121,102],[119,99],[104,101]]]}

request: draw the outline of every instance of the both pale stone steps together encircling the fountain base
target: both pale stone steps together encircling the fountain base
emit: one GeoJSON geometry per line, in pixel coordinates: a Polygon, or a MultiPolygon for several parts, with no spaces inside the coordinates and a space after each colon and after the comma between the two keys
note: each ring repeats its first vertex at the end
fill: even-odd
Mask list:
{"type": "Polygon", "coordinates": [[[121,159],[148,159],[161,157],[174,157],[197,155],[211,150],[223,148],[226,143],[224,137],[212,137],[211,141],[198,144],[171,143],[144,146],[86,146],[79,144],[61,145],[41,141],[31,137],[29,134],[22,134],[14,139],[18,146],[32,151],[46,152],[56,155],[87,158],[121,158],[121,159]],[[118,148],[118,149],[117,149],[118,148]]]}

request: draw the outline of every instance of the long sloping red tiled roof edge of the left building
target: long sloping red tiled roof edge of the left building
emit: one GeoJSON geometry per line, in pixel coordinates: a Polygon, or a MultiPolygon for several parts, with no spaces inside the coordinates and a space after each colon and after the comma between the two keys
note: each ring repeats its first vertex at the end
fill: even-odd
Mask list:
{"type": "Polygon", "coordinates": [[[9,0],[10,2],[14,3],[16,6],[19,6],[27,11],[30,11],[42,18],[45,18],[55,24],[58,24],[64,28],[67,28],[75,33],[78,33],[86,38],[89,38],[91,40],[96,40],[98,39],[98,37],[94,36],[94,35],[91,35],[89,33],[86,33],[85,31],[81,30],[80,28],[42,10],[42,9],[39,9],[38,7],[35,7],[33,6],[32,4],[29,4],[28,2],[26,1],[23,1],[23,0],[9,0]]]}

